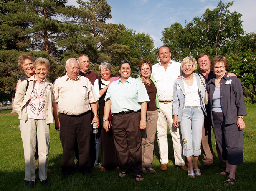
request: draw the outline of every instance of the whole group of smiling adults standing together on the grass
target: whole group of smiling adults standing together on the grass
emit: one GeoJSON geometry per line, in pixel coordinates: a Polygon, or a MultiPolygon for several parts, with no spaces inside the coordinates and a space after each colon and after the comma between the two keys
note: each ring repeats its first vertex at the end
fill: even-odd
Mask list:
{"type": "Polygon", "coordinates": [[[227,59],[216,56],[210,60],[203,53],[197,61],[187,57],[178,63],[171,60],[168,46],[159,48],[158,57],[160,62],[153,66],[149,60],[140,61],[140,76],[135,79],[129,61],[119,63],[121,77],[111,77],[111,65],[101,63],[99,78],[89,69],[88,55],[80,55],[66,61],[66,74],[53,84],[46,79],[47,59],[35,60],[29,54],[19,57],[18,67],[25,75],[18,80],[14,107],[20,119],[28,188],[35,186],[36,149],[40,182],[51,186],[47,163],[53,117],[63,147],[61,180],[76,168],[91,176],[91,167],[99,167],[100,143],[101,172],[121,168],[119,177],[132,172],[136,182],[142,181],[142,173],[156,173],[152,168],[155,133],[160,169],[168,170],[167,126],[175,165],[191,178],[201,176],[200,170],[213,163],[213,126],[225,168],[219,174],[229,175],[223,185],[235,183],[237,165],[243,163],[246,110],[241,82],[235,74],[226,73],[227,59]],[[199,73],[193,73],[198,65],[199,73]],[[98,133],[92,132],[93,123],[98,133]],[[204,158],[199,168],[201,145],[204,158]]]}

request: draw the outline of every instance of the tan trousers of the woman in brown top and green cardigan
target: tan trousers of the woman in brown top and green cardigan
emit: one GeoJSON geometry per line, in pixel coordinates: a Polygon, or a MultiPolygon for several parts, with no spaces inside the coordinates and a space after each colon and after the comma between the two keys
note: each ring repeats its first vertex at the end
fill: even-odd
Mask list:
{"type": "Polygon", "coordinates": [[[142,168],[152,167],[158,111],[147,111],[147,128],[142,133],[142,168]]]}

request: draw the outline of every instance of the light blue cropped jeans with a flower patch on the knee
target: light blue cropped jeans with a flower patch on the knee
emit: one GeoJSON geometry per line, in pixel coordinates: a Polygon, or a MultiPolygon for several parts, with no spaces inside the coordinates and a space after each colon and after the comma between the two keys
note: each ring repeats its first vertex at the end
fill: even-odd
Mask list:
{"type": "Polygon", "coordinates": [[[186,157],[201,154],[202,127],[204,115],[201,106],[184,106],[180,122],[182,134],[183,154],[186,157]]]}

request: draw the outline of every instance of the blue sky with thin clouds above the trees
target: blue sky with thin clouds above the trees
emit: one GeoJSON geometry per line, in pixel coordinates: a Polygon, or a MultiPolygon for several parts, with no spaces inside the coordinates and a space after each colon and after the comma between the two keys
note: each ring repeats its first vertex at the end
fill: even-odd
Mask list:
{"type": "MultiPolygon", "coordinates": [[[[84,0],[86,1],[86,0],[84,0]]],[[[213,10],[219,0],[107,0],[112,7],[112,18],[107,23],[124,24],[126,28],[150,34],[155,47],[162,44],[162,31],[175,22],[183,27],[195,16],[201,17],[207,8],[213,10]]],[[[228,2],[223,0],[223,3],[228,2]]],[[[229,0],[231,2],[231,0],[229,0]]],[[[78,5],[69,0],[67,5],[78,5]]],[[[242,14],[246,33],[256,32],[256,0],[235,0],[230,12],[242,14]]]]}

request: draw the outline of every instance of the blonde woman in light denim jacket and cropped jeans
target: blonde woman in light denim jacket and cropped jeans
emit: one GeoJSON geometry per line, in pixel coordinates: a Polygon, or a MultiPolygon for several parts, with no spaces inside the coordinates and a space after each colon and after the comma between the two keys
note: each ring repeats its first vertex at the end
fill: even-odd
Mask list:
{"type": "Polygon", "coordinates": [[[201,154],[203,113],[207,115],[203,101],[205,81],[200,74],[193,73],[197,69],[197,61],[194,58],[184,58],[181,67],[185,75],[177,79],[173,87],[173,126],[178,128],[180,123],[183,154],[188,161],[188,176],[195,178],[195,175],[201,176],[198,157],[201,154]]]}

